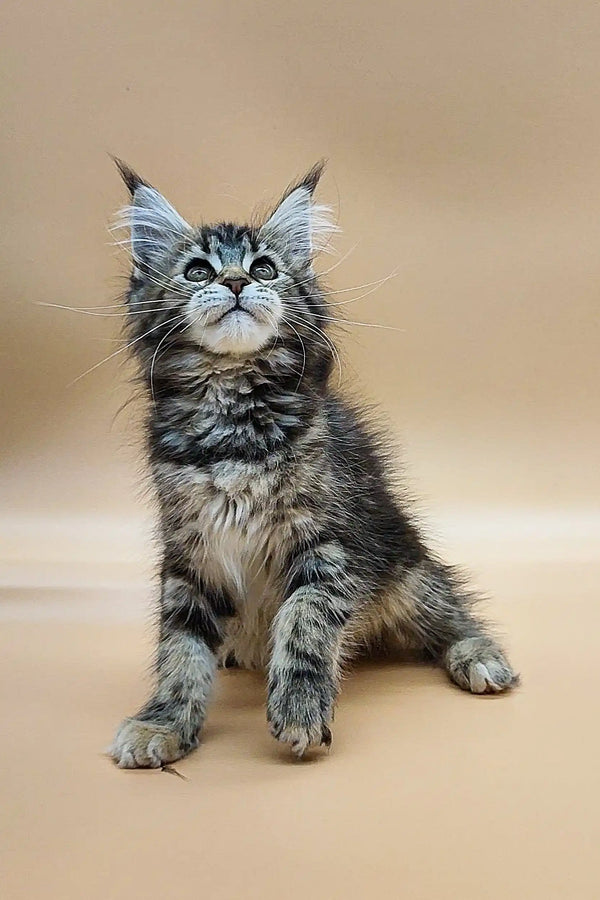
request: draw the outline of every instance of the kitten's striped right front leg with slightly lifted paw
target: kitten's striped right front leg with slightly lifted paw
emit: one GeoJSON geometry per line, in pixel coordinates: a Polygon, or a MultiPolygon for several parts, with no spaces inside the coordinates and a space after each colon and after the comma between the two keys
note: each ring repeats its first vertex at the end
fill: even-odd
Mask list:
{"type": "Polygon", "coordinates": [[[339,657],[355,592],[336,542],[292,555],[288,590],[273,620],[267,718],[297,756],[331,743],[339,657]]]}

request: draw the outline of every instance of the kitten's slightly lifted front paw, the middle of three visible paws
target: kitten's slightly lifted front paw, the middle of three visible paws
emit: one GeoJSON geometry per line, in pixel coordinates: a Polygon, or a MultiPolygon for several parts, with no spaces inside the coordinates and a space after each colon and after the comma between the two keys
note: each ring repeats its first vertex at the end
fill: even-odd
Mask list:
{"type": "Polygon", "coordinates": [[[272,687],[267,703],[271,734],[299,758],[311,747],[331,746],[333,699],[327,686],[308,680],[272,687]]]}

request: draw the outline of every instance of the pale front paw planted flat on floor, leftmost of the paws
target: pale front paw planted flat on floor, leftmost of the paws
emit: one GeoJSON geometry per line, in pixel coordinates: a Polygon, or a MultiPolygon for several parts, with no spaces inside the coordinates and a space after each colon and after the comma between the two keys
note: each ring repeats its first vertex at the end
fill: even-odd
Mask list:
{"type": "Polygon", "coordinates": [[[121,769],[159,769],[181,759],[192,746],[166,725],[125,719],[108,752],[121,769]]]}

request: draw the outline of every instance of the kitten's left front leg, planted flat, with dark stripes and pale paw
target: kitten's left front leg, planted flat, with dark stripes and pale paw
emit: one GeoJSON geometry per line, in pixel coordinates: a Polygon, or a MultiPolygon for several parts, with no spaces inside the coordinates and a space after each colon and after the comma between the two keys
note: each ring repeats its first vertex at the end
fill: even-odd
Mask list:
{"type": "Polygon", "coordinates": [[[158,768],[197,746],[223,619],[233,611],[223,591],[209,589],[180,564],[165,564],[156,689],[117,731],[109,752],[121,768],[158,768]]]}

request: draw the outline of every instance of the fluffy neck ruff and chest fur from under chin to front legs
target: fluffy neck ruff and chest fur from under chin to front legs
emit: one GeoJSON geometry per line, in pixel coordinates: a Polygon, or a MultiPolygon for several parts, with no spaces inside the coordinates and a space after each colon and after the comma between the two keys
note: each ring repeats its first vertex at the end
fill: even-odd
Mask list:
{"type": "Polygon", "coordinates": [[[261,373],[213,375],[200,387],[169,398],[152,422],[163,534],[243,607],[315,530],[324,423],[261,373]]]}

